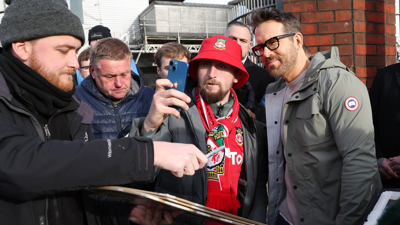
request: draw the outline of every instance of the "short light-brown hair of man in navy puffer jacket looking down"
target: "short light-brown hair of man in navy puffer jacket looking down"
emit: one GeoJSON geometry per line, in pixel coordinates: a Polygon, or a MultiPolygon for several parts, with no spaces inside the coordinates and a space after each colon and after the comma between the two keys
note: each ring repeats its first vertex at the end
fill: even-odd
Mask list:
{"type": "Polygon", "coordinates": [[[130,48],[118,38],[103,38],[90,48],[90,64],[97,67],[101,59],[132,61],[130,48]]]}

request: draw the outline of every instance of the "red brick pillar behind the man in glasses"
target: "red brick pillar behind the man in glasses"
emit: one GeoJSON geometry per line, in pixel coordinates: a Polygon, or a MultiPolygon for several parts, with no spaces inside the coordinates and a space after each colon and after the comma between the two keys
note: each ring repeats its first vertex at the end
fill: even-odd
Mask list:
{"type": "Polygon", "coordinates": [[[376,70],[396,63],[395,0],[283,0],[301,22],[312,54],[337,46],[340,61],[370,88],[376,70]]]}

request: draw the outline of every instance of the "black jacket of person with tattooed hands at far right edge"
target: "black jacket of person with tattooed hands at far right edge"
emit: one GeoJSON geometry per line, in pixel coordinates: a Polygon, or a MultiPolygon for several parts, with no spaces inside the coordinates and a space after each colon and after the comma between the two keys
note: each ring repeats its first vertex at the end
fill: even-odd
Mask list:
{"type": "MultiPolygon", "coordinates": [[[[376,74],[369,92],[375,130],[376,158],[400,155],[400,63],[376,74]]],[[[400,187],[400,179],[382,180],[385,188],[400,187]]]]}

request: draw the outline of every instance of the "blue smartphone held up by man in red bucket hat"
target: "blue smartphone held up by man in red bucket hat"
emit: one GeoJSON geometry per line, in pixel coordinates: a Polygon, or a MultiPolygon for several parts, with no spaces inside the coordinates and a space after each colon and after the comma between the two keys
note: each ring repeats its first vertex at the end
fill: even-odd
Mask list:
{"type": "MultiPolygon", "coordinates": [[[[176,83],[177,87],[172,87],[180,92],[185,92],[186,89],[186,81],[188,80],[188,72],[189,72],[189,64],[187,62],[182,62],[179,60],[170,60],[170,64],[168,66],[168,80],[170,80],[173,84],[176,83]]],[[[166,90],[171,89],[170,87],[166,87],[166,90]]],[[[179,112],[182,111],[181,107],[171,105],[170,107],[176,108],[179,112]]]]}

